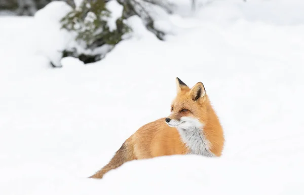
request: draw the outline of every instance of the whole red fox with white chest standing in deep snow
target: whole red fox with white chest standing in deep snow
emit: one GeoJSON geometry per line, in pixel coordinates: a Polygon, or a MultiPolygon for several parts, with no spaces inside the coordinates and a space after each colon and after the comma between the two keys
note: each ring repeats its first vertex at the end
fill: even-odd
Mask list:
{"type": "Polygon", "coordinates": [[[102,178],[108,171],[132,160],[174,154],[221,155],[223,130],[203,83],[189,88],[176,77],[176,85],[171,114],[140,127],[110,162],[89,178],[102,178]]]}

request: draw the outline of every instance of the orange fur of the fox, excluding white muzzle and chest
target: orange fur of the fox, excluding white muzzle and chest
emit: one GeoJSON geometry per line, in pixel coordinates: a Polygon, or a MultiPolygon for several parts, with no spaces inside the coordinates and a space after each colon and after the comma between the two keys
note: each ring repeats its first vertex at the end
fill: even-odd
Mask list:
{"type": "MultiPolygon", "coordinates": [[[[202,131],[209,141],[210,151],[219,157],[224,144],[223,131],[204,85],[199,82],[190,89],[178,78],[176,81],[177,96],[172,102],[169,118],[179,120],[183,116],[191,116],[198,119],[204,124],[202,131]],[[198,99],[194,100],[195,98],[198,99]],[[182,109],[187,110],[181,111],[182,109]]],[[[111,169],[116,169],[128,161],[187,153],[189,148],[181,140],[177,129],[169,127],[165,118],[161,118],[140,127],[126,140],[112,160],[90,178],[102,178],[111,169]]]]}

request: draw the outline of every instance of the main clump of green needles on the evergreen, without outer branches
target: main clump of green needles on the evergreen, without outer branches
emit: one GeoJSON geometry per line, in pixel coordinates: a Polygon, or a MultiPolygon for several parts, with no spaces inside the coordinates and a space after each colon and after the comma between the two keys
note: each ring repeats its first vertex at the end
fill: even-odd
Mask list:
{"type": "Polygon", "coordinates": [[[62,28],[77,33],[76,41],[85,42],[86,48],[94,49],[103,44],[116,45],[122,41],[122,36],[130,31],[124,24],[124,18],[116,21],[117,29],[110,30],[107,18],[111,13],[106,9],[103,0],[83,2],[79,9],[73,9],[62,20],[62,28]]]}

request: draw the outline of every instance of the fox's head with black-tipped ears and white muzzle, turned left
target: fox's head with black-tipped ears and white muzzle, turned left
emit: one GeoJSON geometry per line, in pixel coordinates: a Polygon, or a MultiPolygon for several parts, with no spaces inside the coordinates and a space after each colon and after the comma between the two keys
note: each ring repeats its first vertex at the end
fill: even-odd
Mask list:
{"type": "Polygon", "coordinates": [[[171,114],[165,119],[178,129],[202,128],[206,120],[208,97],[203,83],[189,88],[176,77],[177,96],[171,104],[171,114]]]}

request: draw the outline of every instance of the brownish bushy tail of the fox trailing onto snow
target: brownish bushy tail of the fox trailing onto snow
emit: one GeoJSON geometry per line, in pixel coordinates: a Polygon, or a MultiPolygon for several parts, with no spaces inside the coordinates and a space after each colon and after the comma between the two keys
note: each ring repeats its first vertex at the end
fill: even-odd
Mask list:
{"type": "Polygon", "coordinates": [[[112,169],[116,169],[128,161],[135,160],[133,147],[127,141],[123,143],[119,150],[115,153],[111,161],[101,170],[97,171],[89,178],[101,179],[105,173],[112,169]]]}

